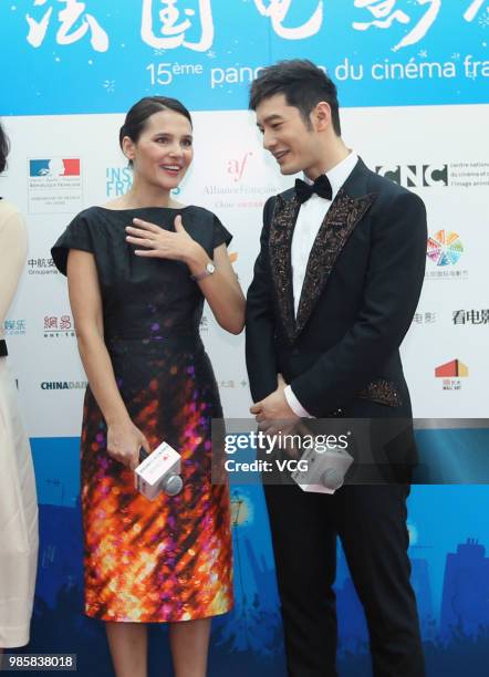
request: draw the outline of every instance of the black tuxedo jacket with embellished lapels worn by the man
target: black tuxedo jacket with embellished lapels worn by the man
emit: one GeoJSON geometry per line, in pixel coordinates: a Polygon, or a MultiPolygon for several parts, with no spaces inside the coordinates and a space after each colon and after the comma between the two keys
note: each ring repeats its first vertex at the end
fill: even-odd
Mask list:
{"type": "Polygon", "coordinates": [[[399,345],[426,262],[419,197],[358,159],[322,222],[295,316],[291,241],[294,189],[263,210],[247,304],[247,366],[254,402],[281,373],[315,417],[410,417],[399,345]]]}

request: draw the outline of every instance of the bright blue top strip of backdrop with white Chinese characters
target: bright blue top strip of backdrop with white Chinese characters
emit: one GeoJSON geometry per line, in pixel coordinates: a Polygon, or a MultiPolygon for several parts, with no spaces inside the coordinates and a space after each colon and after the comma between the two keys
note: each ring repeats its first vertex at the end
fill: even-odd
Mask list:
{"type": "Polygon", "coordinates": [[[485,103],[488,24],[486,0],[12,0],[0,113],[122,112],[165,87],[191,110],[246,108],[256,69],[298,55],[343,106],[485,103]]]}

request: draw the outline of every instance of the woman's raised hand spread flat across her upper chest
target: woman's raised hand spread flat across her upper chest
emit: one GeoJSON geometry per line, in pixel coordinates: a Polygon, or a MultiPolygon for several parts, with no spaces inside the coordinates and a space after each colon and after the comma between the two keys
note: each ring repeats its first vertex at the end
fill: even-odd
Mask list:
{"type": "Polygon", "coordinates": [[[188,262],[200,248],[185,230],[180,215],[175,217],[175,232],[142,219],[133,219],[133,223],[126,228],[126,241],[135,247],[144,247],[134,252],[138,257],[188,262]]]}

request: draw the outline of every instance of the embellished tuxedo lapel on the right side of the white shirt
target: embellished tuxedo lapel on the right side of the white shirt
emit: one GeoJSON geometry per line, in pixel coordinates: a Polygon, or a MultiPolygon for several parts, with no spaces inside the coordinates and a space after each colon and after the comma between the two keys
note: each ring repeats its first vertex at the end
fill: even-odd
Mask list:
{"type": "Polygon", "coordinates": [[[340,188],[321,223],[309,256],[298,316],[294,323],[294,337],[304,329],[343,247],[375,198],[375,194],[355,198],[348,195],[344,188],[340,188]]]}

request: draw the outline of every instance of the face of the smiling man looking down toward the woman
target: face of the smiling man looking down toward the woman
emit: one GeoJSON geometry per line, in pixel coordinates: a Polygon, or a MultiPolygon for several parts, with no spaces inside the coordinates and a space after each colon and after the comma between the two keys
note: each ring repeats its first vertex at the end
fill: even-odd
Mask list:
{"type": "Polygon", "coordinates": [[[263,147],[273,155],[282,174],[304,171],[314,179],[323,171],[314,123],[310,128],[299,108],[288,105],[283,94],[266,98],[257,106],[257,125],[263,135],[263,147]]]}

